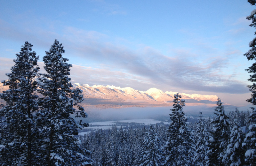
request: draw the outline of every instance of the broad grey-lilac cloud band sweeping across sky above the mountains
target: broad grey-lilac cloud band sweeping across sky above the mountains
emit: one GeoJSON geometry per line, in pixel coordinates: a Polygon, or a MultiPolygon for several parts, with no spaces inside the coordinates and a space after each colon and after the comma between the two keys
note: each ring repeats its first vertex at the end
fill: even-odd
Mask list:
{"type": "MultiPolygon", "coordinates": [[[[64,57],[79,58],[82,61],[77,64],[88,64],[87,67],[74,65],[71,70],[71,78],[77,82],[83,80],[80,83],[115,84],[139,90],[157,87],[168,91],[187,89],[231,94],[248,92],[245,84],[235,77],[236,73],[227,73],[227,66],[233,65],[230,59],[220,56],[211,44],[200,38],[197,39],[201,41],[197,47],[211,50],[210,53],[184,47],[170,49],[170,55],[164,55],[149,46],[139,45],[138,49],[131,49],[120,42],[120,37],[71,26],[63,27],[61,34],[39,27],[23,31],[6,22],[0,27],[3,29],[2,37],[22,39],[23,43],[26,36],[30,36],[34,40],[33,44],[44,50],[48,50],[52,40],[58,38],[66,50],[64,57]]],[[[232,51],[237,50],[229,50],[226,54],[235,53],[232,51]]],[[[2,65],[5,64],[1,64],[1,70],[2,65]]]]}

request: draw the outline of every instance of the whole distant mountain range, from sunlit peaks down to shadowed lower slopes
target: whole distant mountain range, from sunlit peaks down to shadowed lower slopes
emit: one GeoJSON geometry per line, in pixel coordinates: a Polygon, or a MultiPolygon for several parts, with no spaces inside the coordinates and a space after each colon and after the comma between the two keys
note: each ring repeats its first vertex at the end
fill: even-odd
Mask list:
{"type": "MultiPolygon", "coordinates": [[[[120,108],[120,107],[145,107],[145,106],[171,106],[173,95],[177,92],[163,92],[157,88],[150,88],[147,91],[135,90],[131,87],[115,87],[88,84],[73,84],[73,88],[83,90],[84,107],[96,108],[120,108]]],[[[7,90],[8,87],[0,83],[0,92],[7,90]]],[[[218,96],[202,94],[179,93],[185,99],[186,105],[208,105],[215,106],[218,96]]],[[[225,103],[227,104],[227,103],[225,103]]]]}

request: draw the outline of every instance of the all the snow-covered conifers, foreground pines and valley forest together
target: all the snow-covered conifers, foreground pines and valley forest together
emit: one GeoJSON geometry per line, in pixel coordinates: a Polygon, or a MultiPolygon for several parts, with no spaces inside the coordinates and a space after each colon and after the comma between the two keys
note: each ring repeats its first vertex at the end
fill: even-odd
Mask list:
{"type": "MultiPolygon", "coordinates": [[[[246,19],[256,27],[256,9],[246,19]]],[[[255,106],[256,38],[249,46],[247,101],[255,106]]],[[[42,58],[44,69],[32,47],[25,41],[2,81],[9,88],[0,93],[1,166],[256,166],[256,109],[225,112],[220,98],[214,118],[204,118],[202,110],[188,123],[186,101],[177,93],[168,125],[113,126],[78,136],[78,129],[89,126],[88,115],[80,105],[82,90],[70,82],[64,47],[54,40],[42,58]]]]}

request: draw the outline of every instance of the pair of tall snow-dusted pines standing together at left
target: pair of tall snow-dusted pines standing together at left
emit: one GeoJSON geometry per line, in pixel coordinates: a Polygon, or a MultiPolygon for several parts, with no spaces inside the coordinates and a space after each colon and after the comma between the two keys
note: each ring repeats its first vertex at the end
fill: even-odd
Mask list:
{"type": "Polygon", "coordinates": [[[70,83],[70,67],[65,50],[55,39],[43,57],[46,74],[39,73],[36,52],[25,41],[16,54],[8,80],[9,89],[0,94],[0,165],[80,165],[91,161],[81,147],[77,129],[88,126],[75,122],[70,114],[86,118],[82,91],[70,83]],[[36,95],[36,91],[42,97],[36,95]],[[77,107],[74,108],[74,106],[77,107]]]}

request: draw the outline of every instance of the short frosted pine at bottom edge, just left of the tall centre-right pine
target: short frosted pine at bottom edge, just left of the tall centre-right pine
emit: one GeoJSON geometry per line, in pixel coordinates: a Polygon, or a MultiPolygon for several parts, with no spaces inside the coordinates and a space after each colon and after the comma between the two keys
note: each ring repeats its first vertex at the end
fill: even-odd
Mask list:
{"type": "Polygon", "coordinates": [[[154,127],[151,125],[142,145],[140,166],[156,166],[163,164],[164,156],[160,143],[160,139],[154,127]]]}

